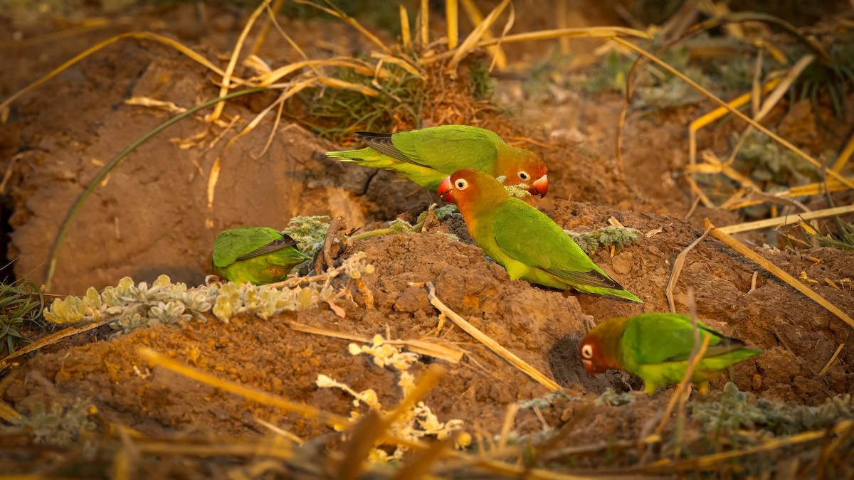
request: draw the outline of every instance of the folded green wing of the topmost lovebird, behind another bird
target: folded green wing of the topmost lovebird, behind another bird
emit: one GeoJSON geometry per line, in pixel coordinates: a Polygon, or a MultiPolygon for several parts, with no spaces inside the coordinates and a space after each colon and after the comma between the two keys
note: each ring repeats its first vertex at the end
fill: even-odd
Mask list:
{"type": "Polygon", "coordinates": [[[477,126],[446,125],[395,133],[356,134],[372,149],[400,161],[453,173],[460,168],[483,170],[498,157],[504,141],[477,126]]]}

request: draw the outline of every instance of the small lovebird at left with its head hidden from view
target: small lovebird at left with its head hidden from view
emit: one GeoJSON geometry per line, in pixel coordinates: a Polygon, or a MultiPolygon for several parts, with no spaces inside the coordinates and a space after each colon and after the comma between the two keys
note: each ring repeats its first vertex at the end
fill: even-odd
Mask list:
{"type": "Polygon", "coordinates": [[[238,285],[264,285],[284,280],[310,258],[293,238],[272,228],[235,228],[220,231],[213,241],[211,270],[238,285]]]}

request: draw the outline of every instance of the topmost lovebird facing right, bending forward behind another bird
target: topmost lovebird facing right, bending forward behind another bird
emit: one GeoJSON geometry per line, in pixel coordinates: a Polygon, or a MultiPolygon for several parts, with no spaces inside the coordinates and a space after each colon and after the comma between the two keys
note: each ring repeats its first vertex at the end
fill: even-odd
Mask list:
{"type": "Polygon", "coordinates": [[[474,168],[505,185],[525,184],[531,195],[546,196],[546,165],[534,152],[504,143],[496,133],[478,126],[444,125],[395,133],[358,132],[367,147],[326,152],[340,161],[383,168],[436,191],[442,179],[460,168],[474,168]]]}

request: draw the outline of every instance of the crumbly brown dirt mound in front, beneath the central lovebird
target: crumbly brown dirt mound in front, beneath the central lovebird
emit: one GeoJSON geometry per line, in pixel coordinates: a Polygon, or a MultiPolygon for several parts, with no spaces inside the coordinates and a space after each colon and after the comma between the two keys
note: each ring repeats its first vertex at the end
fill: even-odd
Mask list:
{"type": "MultiPolygon", "coordinates": [[[[105,419],[126,424],[147,434],[167,430],[249,435],[259,430],[253,417],[284,424],[298,436],[315,436],[325,427],[305,419],[278,418],[266,407],[155,368],[149,372],[136,349],[149,346],[159,352],[213,372],[222,378],[283,395],[293,401],[323,405],[346,415],[352,400],[315,380],[328,375],[352,388],[375,389],[383,404],[400,398],[393,372],[371,366],[369,360],[347,354],[345,341],[290,330],[290,321],[371,337],[435,337],[439,323],[423,287],[410,283],[433,282],[436,295],[448,307],[469,319],[489,337],[511,349],[542,372],[556,378],[571,395],[599,395],[639,385],[621,373],[588,378],[577,358],[577,342],[593,319],[666,311],[664,286],[670,264],[687,243],[700,233],[667,215],[618,212],[586,203],[558,202],[555,220],[576,231],[592,230],[616,216],[624,225],[654,233],[641,236],[623,251],[609,257],[594,255],[606,272],[644,298],[637,305],[593,296],[572,296],[524,281],[510,281],[502,267],[488,260],[474,245],[449,234],[459,231],[452,217],[423,234],[395,234],[355,243],[376,266],[366,284],[376,301],[366,309],[359,295],[346,306],[346,319],[327,310],[283,314],[267,321],[237,318],[230,324],[217,320],[187,323],[180,328],[158,326],[141,329],[110,341],[94,342],[57,352],[44,352],[22,368],[9,385],[5,400],[20,411],[51,399],[88,398],[105,419]]],[[[798,259],[781,251],[760,250],[793,274],[851,276],[851,254],[818,249],[818,259],[798,259]]],[[[693,286],[703,319],[734,337],[766,352],[734,369],[734,382],[743,391],[772,399],[823,401],[851,389],[851,349],[826,377],[815,375],[833,354],[846,326],[822,307],[775,278],[760,272],[751,289],[754,266],[713,240],[700,243],[688,255],[675,290],[676,306],[685,311],[685,292],[693,286]]],[[[823,296],[851,311],[851,296],[831,287],[815,287],[823,296]]],[[[466,352],[449,372],[441,388],[425,400],[442,419],[467,423],[500,424],[506,404],[545,395],[547,390],[473,342],[450,322],[438,333],[444,342],[466,352]]],[[[430,363],[429,358],[423,358],[430,363]]],[[[415,367],[416,375],[423,366],[415,367]]],[[[721,388],[725,377],[712,383],[721,388]]],[[[660,399],[662,396],[658,395],[660,399]]],[[[656,400],[658,402],[660,400],[656,400]]],[[[555,413],[560,415],[560,413],[555,413]]],[[[520,419],[524,423],[524,419],[520,419]]],[[[531,428],[533,428],[533,424],[531,428]]],[[[615,425],[614,428],[617,428],[615,425]]],[[[622,427],[621,427],[622,428],[622,427]]]]}

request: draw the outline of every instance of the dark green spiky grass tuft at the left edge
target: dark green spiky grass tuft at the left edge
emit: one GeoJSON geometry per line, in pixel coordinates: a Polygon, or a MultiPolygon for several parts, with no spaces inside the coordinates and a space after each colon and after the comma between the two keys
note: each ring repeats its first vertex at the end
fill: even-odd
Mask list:
{"type": "Polygon", "coordinates": [[[0,284],[0,356],[32,343],[24,337],[22,330],[44,331],[41,322],[43,307],[44,296],[36,284],[0,284]]]}

